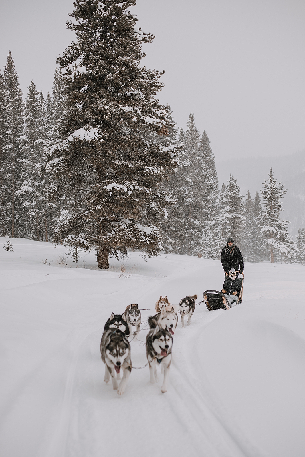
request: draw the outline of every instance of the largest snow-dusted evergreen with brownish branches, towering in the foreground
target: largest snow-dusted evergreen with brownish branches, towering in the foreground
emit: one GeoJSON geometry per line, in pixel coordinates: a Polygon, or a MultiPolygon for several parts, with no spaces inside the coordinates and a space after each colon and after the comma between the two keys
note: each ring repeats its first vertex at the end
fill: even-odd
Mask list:
{"type": "Polygon", "coordinates": [[[48,169],[61,201],[70,203],[54,239],[82,234],[97,247],[99,268],[128,248],[160,252],[157,226],[168,197],[159,185],[177,161],[176,145],[144,139],[147,132],[168,135],[167,111],[156,99],[162,73],[140,66],[142,43],[153,36],[136,29],[128,11],[135,3],[76,0],[74,22],[67,22],[76,43],[58,59],[67,108],[48,169]]]}

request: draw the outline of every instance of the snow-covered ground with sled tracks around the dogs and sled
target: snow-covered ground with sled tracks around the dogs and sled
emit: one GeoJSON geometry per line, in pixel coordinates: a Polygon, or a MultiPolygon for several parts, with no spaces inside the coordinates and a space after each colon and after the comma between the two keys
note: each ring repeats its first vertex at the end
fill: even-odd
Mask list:
{"type": "MultiPolygon", "coordinates": [[[[75,268],[62,246],[12,245],[0,249],[1,456],[305,455],[305,266],[246,264],[240,306],[179,319],[168,392],[146,367],[120,397],[99,352],[111,312],[136,302],[145,321],[160,295],[199,302],[221,289],[220,262],[130,253],[98,271],[93,253],[75,268]]],[[[131,360],[146,363],[141,341],[131,360]]]]}

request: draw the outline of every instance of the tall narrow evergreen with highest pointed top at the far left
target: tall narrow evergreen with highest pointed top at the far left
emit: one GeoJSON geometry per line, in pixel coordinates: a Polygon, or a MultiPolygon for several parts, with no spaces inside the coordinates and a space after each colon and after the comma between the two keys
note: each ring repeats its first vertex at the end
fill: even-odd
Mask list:
{"type": "Polygon", "coordinates": [[[2,179],[2,235],[14,237],[24,236],[22,218],[22,198],[17,191],[21,187],[21,138],[23,135],[23,101],[19,87],[18,75],[15,70],[11,51],[8,53],[4,67],[4,85],[7,105],[6,138],[2,148],[3,157],[2,179]]]}

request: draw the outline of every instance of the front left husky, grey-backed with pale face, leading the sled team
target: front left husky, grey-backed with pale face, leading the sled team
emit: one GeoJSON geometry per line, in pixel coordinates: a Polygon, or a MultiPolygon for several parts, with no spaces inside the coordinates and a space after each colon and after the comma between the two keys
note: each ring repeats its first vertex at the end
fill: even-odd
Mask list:
{"type": "Polygon", "coordinates": [[[127,337],[121,330],[111,328],[103,333],[101,340],[101,356],[105,364],[105,383],[109,382],[111,377],[114,390],[118,391],[119,395],[124,393],[129,375],[131,373],[131,354],[130,344],[127,337]],[[117,379],[120,379],[120,369],[123,370],[123,377],[118,385],[117,379]],[[115,377],[117,373],[117,378],[115,377]]]}

